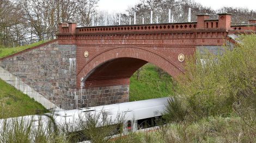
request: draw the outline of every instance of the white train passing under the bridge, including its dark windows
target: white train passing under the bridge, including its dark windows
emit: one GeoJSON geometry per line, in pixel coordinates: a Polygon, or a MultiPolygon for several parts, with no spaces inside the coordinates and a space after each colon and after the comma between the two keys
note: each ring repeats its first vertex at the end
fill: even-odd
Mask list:
{"type": "MultiPolygon", "coordinates": [[[[68,131],[79,132],[80,127],[76,125],[78,120],[81,118],[86,118],[86,115],[96,115],[101,114],[99,117],[102,118],[103,115],[107,115],[109,120],[115,120],[118,116],[121,116],[124,119],[124,131],[137,131],[141,128],[155,126],[153,120],[161,118],[162,114],[166,109],[169,98],[159,98],[159,99],[149,99],[125,103],[117,103],[112,105],[89,107],[89,108],[80,108],[73,109],[69,111],[59,111],[54,113],[48,113],[44,115],[34,115],[34,116],[23,116],[19,118],[9,118],[11,119],[27,119],[31,120],[33,118],[33,126],[38,127],[39,125],[45,126],[47,124],[48,117],[52,116],[54,123],[57,127],[62,126],[63,124],[68,125],[68,131]],[[39,123],[40,120],[40,123],[39,123]],[[77,126],[77,127],[76,127],[77,126]],[[76,131],[74,131],[74,128],[76,131]]],[[[4,120],[0,120],[0,126],[4,120]]],[[[5,119],[6,121],[6,119],[5,119]]],[[[99,119],[101,121],[101,119],[99,119]]],[[[115,122],[113,122],[115,124],[115,122]]],[[[0,127],[2,128],[2,127],[0,127]]],[[[81,128],[82,129],[82,128],[81,128]]],[[[81,140],[83,141],[83,140],[81,140]]]]}

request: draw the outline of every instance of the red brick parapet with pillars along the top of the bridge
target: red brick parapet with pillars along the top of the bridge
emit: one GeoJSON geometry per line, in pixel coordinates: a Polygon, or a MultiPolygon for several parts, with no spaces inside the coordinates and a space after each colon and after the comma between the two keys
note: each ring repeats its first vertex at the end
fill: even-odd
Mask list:
{"type": "MultiPolygon", "coordinates": [[[[251,19],[251,23],[255,20],[251,19]]],[[[218,19],[209,19],[209,15],[198,15],[197,22],[161,23],[143,25],[113,25],[105,27],[80,27],[74,31],[75,23],[59,24],[59,36],[71,35],[102,35],[102,34],[149,34],[150,32],[186,32],[198,29],[229,30],[231,14],[218,14],[218,19]],[[68,25],[68,26],[67,26],[68,25]],[[63,26],[63,27],[62,27],[63,26]],[[66,29],[72,29],[72,32],[66,29]]],[[[251,25],[252,26],[252,25],[251,25]]],[[[73,38],[72,38],[73,40],[73,38]]]]}

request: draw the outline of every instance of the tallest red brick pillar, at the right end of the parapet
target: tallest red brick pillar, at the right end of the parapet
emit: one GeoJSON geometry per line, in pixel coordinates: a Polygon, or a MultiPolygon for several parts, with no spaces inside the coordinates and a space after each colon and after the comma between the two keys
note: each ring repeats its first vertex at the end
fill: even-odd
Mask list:
{"type": "Polygon", "coordinates": [[[231,27],[231,14],[218,14],[218,27],[230,29],[231,27]]]}

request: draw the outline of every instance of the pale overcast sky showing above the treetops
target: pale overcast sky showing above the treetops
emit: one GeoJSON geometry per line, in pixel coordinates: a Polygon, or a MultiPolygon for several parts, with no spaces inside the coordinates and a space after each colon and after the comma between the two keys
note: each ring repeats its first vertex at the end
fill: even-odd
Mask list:
{"type": "MultiPolygon", "coordinates": [[[[204,6],[210,6],[216,10],[222,6],[246,7],[248,9],[256,10],[256,0],[194,0],[204,6]]],[[[108,12],[123,12],[129,6],[137,4],[139,0],[100,0],[100,10],[107,10],[108,12]]]]}

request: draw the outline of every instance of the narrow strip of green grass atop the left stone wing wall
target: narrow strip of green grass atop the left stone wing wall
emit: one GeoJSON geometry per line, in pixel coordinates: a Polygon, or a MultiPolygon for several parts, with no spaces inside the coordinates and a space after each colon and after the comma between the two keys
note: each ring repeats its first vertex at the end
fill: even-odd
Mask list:
{"type": "Polygon", "coordinates": [[[38,46],[39,44],[45,43],[47,41],[39,41],[33,44],[29,44],[29,45],[25,45],[25,46],[21,46],[21,47],[14,47],[14,48],[0,48],[0,58],[1,57],[5,57],[14,53],[17,53],[19,51],[28,49],[28,48],[32,48],[35,46],[38,46]]]}

